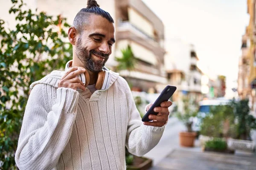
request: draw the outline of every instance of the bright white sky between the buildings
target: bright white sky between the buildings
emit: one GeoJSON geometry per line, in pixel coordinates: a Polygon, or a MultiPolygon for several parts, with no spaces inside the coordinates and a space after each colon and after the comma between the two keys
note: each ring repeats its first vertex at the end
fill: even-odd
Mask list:
{"type": "Polygon", "coordinates": [[[250,19],[247,0],[143,2],[163,21],[166,47],[168,40],[173,38],[194,44],[198,66],[211,76],[226,76],[226,97],[233,97],[232,88],[237,87],[241,38],[250,19]]]}

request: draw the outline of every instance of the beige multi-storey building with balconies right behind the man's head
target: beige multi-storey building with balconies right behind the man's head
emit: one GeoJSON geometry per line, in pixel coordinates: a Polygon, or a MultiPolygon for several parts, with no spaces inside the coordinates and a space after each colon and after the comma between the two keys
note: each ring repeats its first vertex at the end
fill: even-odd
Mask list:
{"type": "Polygon", "coordinates": [[[134,70],[120,71],[122,77],[129,77],[132,90],[160,92],[166,85],[164,70],[164,26],[162,21],[141,0],[116,0],[116,51],[128,45],[136,57],[134,70]],[[158,88],[161,87],[161,88],[158,88]]]}

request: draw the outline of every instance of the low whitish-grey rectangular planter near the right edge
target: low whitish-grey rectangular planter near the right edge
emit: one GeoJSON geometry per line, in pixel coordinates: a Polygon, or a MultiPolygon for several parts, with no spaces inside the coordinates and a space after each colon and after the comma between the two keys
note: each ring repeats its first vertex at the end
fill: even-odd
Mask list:
{"type": "Polygon", "coordinates": [[[227,146],[233,150],[255,151],[255,143],[248,140],[227,139],[227,146]]]}

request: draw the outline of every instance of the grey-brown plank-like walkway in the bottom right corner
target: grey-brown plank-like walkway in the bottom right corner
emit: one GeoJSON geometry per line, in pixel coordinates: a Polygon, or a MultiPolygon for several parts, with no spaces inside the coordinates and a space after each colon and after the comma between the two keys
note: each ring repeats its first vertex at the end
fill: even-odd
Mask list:
{"type": "Polygon", "coordinates": [[[256,170],[256,156],[175,149],[150,170],[256,170]]]}

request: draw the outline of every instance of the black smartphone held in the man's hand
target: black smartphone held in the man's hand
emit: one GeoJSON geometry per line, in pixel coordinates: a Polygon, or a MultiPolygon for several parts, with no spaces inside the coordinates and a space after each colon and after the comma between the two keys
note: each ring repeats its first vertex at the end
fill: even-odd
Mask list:
{"type": "Polygon", "coordinates": [[[170,97],[174,94],[176,91],[176,87],[172,85],[167,85],[166,88],[163,89],[162,93],[160,96],[156,99],[154,104],[151,106],[151,108],[148,109],[147,113],[143,116],[142,121],[143,122],[149,122],[151,119],[148,119],[148,116],[150,114],[157,115],[157,112],[154,112],[155,107],[160,107],[162,102],[168,101],[170,97]]]}

